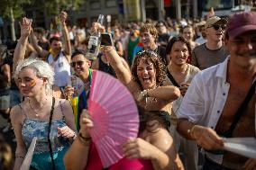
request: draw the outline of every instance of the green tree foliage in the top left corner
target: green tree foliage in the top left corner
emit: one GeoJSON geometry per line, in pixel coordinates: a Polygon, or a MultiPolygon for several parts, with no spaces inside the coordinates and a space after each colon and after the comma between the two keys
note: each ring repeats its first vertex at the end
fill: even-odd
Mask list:
{"type": "Polygon", "coordinates": [[[0,16],[10,18],[10,11],[13,9],[14,18],[20,17],[23,12],[23,5],[31,4],[31,0],[0,0],[0,16]]]}

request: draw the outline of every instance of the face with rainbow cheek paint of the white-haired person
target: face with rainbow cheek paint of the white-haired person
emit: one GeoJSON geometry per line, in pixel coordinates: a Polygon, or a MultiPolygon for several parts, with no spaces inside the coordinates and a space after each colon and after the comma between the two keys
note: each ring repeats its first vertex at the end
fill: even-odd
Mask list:
{"type": "Polygon", "coordinates": [[[32,97],[44,89],[45,81],[36,76],[36,70],[31,67],[24,67],[18,76],[18,85],[25,97],[32,97]]]}

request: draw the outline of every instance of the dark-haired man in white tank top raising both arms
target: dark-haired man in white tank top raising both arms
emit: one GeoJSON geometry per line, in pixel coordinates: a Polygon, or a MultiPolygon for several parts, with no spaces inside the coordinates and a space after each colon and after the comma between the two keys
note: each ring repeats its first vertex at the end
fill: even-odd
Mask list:
{"type": "Polygon", "coordinates": [[[61,12],[59,15],[59,20],[63,28],[64,36],[64,50],[62,50],[62,42],[59,37],[50,38],[50,50],[42,49],[36,42],[33,33],[31,34],[32,46],[36,49],[37,53],[44,58],[51,67],[54,68],[55,80],[54,85],[59,86],[60,88],[68,85],[68,77],[70,76],[70,55],[71,55],[71,45],[69,40],[69,31],[66,26],[68,14],[61,12]]]}

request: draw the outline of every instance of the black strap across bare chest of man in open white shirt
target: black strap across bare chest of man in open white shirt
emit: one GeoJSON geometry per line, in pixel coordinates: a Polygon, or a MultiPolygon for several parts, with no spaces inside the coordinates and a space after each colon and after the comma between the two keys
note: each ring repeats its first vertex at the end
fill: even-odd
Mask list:
{"type": "Polygon", "coordinates": [[[247,107],[248,103],[251,101],[252,95],[255,93],[255,87],[256,87],[256,81],[253,82],[253,84],[251,85],[251,88],[250,88],[248,94],[246,95],[244,101],[242,102],[241,106],[238,108],[237,112],[234,114],[233,122],[232,122],[229,130],[224,132],[224,134],[226,135],[225,137],[229,137],[229,138],[232,137],[233,130],[235,129],[236,124],[238,123],[238,121],[242,117],[242,113],[245,110],[245,108],[247,107]]]}

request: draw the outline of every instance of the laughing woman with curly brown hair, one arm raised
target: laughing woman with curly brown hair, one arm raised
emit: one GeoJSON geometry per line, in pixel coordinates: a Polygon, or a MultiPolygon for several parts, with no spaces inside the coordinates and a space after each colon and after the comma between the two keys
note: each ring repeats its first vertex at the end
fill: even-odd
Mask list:
{"type": "Polygon", "coordinates": [[[151,50],[139,52],[130,70],[112,47],[105,47],[105,55],[114,67],[117,78],[133,94],[134,99],[147,111],[166,111],[170,113],[171,103],[180,92],[178,87],[165,85],[166,69],[160,57],[151,50]]]}

